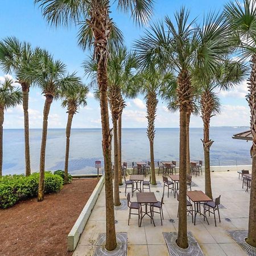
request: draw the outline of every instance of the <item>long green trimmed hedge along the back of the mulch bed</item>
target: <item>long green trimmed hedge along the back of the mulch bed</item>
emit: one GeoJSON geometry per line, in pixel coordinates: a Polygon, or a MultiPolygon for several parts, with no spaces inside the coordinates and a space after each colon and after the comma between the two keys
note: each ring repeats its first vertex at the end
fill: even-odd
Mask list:
{"type": "MultiPolygon", "coordinates": [[[[13,206],[19,200],[38,195],[39,173],[30,176],[6,175],[0,177],[0,208],[13,206]]],[[[58,192],[63,187],[63,179],[59,175],[45,172],[44,193],[58,192]]]]}

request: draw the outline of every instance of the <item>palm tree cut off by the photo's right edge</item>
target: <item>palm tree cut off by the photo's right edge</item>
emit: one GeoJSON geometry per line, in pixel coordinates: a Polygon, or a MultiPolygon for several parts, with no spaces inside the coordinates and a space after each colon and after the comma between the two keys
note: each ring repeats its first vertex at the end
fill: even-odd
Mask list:
{"type": "Polygon", "coordinates": [[[230,2],[225,5],[224,15],[229,29],[232,31],[234,47],[241,53],[241,57],[251,58],[251,73],[249,79],[249,94],[247,101],[251,112],[251,134],[253,145],[251,147],[251,192],[248,237],[246,242],[256,247],[256,1],[243,0],[243,2],[230,2]]]}

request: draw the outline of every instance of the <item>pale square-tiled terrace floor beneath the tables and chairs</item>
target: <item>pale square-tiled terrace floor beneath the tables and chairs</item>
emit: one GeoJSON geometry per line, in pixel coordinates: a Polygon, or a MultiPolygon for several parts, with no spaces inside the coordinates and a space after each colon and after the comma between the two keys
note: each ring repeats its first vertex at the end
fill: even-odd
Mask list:
{"type": "MultiPolygon", "coordinates": [[[[226,208],[220,209],[221,223],[217,220],[217,227],[215,227],[213,214],[211,214],[208,217],[210,224],[208,225],[203,220],[203,216],[197,214],[196,225],[194,226],[191,215],[189,215],[187,218],[188,231],[192,232],[205,255],[246,255],[225,230],[247,230],[250,193],[245,192],[245,188],[242,189],[242,180],[238,179],[237,172],[212,172],[211,175],[213,197],[221,195],[221,204],[226,208]],[[225,221],[225,218],[230,218],[232,222],[225,221]]],[[[155,192],[156,198],[160,201],[163,192],[162,175],[156,177],[160,184],[157,186],[151,185],[151,192],[155,192]]],[[[148,175],[146,179],[149,179],[148,175]]],[[[192,187],[192,191],[204,191],[204,174],[203,176],[192,176],[192,181],[198,185],[198,187],[192,187]]],[[[120,198],[126,199],[124,185],[119,190],[121,191],[120,198]]],[[[130,192],[130,189],[128,191],[130,192]]],[[[137,200],[135,194],[131,198],[131,201],[133,200],[137,200]]],[[[177,232],[177,208],[178,202],[174,198],[174,194],[171,193],[168,198],[167,189],[165,189],[163,226],[160,223],[160,215],[156,213],[154,216],[155,227],[150,224],[149,217],[144,217],[141,228],[139,228],[138,216],[135,215],[131,216],[130,225],[128,226],[129,209],[115,210],[115,220],[118,220],[115,226],[116,231],[127,232],[128,235],[127,254],[129,256],[168,255],[162,232],[177,232]],[[170,218],[175,220],[174,224],[168,221],[170,218]]],[[[98,197],[73,255],[93,255],[98,233],[101,232],[105,232],[105,187],[98,197]]]]}

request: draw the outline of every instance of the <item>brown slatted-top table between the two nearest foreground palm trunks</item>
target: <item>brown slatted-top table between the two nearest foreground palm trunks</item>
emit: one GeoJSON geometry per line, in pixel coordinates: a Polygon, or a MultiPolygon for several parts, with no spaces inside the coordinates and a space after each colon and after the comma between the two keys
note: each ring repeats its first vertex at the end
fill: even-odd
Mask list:
{"type": "MultiPolygon", "coordinates": [[[[154,222],[153,213],[152,213],[152,204],[158,203],[158,200],[156,200],[155,193],[154,192],[142,192],[137,193],[137,203],[141,205],[141,222],[144,216],[150,217],[151,222],[154,222]],[[145,211],[142,210],[142,205],[145,205],[145,211]],[[150,207],[150,212],[148,212],[147,205],[150,207]],[[144,213],[144,214],[143,214],[144,213]]],[[[141,226],[141,223],[139,224],[141,226]]]]}

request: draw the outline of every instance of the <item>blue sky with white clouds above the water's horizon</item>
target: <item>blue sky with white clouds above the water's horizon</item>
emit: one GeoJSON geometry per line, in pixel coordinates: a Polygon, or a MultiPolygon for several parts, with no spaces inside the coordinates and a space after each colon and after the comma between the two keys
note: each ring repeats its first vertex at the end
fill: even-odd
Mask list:
{"type": "MultiPolygon", "coordinates": [[[[150,23],[162,20],[168,15],[171,19],[175,11],[181,6],[187,7],[191,17],[199,20],[211,10],[220,11],[227,3],[223,0],[155,0],[154,15],[150,23]]],[[[15,36],[20,41],[30,42],[33,47],[39,46],[47,49],[55,59],[60,59],[67,64],[68,72],[77,72],[86,83],[89,80],[84,76],[82,62],[90,55],[77,46],[78,27],[52,28],[43,18],[38,6],[32,0],[1,0],[0,15],[0,40],[7,36],[15,36]],[[3,11],[4,10],[4,11],[3,11]]],[[[133,23],[129,14],[124,14],[112,9],[111,17],[123,32],[125,45],[132,48],[134,40],[143,35],[143,31],[149,26],[139,28],[133,23]]],[[[0,70],[0,81],[7,74],[0,70]]],[[[13,76],[15,74],[8,74],[13,76]]],[[[80,108],[79,113],[73,119],[73,128],[100,128],[100,105],[93,98],[93,89],[88,94],[88,105],[80,108]]],[[[220,92],[221,114],[212,118],[212,126],[249,126],[250,111],[245,96],[247,94],[247,81],[242,81],[236,88],[228,92],[220,92]]],[[[143,128],[147,127],[146,101],[143,96],[127,100],[123,111],[123,127],[143,128]]],[[[38,88],[30,89],[29,115],[30,128],[42,128],[44,96],[38,88]]],[[[61,108],[60,101],[54,101],[49,113],[49,128],[64,128],[67,122],[66,110],[61,108]]],[[[111,119],[110,119],[111,123],[111,119]]],[[[166,103],[159,98],[156,127],[179,127],[179,113],[170,113],[166,103]]],[[[191,127],[202,127],[200,117],[191,118],[191,127]]],[[[5,113],[4,129],[23,128],[23,108],[21,105],[9,109],[5,113]]]]}

